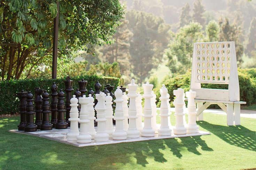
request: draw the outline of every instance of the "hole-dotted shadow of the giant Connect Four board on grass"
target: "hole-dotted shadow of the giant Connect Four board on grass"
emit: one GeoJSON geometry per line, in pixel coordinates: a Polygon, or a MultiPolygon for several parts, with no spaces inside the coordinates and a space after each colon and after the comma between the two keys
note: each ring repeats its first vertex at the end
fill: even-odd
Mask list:
{"type": "Polygon", "coordinates": [[[200,121],[199,125],[231,145],[256,151],[256,131],[251,131],[241,125],[221,126],[206,121],[200,121]]]}

